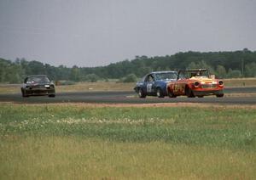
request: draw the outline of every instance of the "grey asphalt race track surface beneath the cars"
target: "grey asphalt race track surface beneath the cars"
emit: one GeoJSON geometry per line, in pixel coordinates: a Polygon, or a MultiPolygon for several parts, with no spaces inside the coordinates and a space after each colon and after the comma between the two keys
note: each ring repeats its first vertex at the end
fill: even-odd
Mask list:
{"type": "Polygon", "coordinates": [[[49,103],[108,103],[108,104],[156,104],[156,103],[202,103],[202,104],[255,104],[256,97],[243,97],[243,93],[256,93],[256,87],[225,88],[224,93],[241,93],[239,97],[216,98],[137,98],[132,91],[122,92],[79,92],[56,93],[55,98],[48,96],[34,96],[22,98],[21,93],[0,94],[0,102],[14,102],[20,104],[49,104],[49,103]]]}

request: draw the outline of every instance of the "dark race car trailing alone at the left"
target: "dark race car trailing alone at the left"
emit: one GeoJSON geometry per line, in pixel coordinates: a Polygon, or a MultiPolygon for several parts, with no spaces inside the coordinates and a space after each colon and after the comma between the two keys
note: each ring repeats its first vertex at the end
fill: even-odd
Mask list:
{"type": "Polygon", "coordinates": [[[55,97],[55,84],[45,75],[27,76],[21,87],[22,97],[48,95],[55,97]]]}

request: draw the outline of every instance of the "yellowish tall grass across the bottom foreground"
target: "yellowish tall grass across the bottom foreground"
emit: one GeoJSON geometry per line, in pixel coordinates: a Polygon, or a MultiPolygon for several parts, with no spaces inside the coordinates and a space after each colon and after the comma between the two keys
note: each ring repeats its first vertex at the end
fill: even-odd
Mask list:
{"type": "Polygon", "coordinates": [[[1,139],[1,179],[253,179],[255,153],[95,138],[1,139]]]}

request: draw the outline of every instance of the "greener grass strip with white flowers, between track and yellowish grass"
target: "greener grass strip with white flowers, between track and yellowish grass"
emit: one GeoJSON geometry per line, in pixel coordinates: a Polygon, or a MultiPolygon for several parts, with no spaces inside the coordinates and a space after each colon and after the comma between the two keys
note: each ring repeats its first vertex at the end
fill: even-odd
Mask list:
{"type": "Polygon", "coordinates": [[[164,141],[233,148],[255,145],[255,110],[3,104],[0,115],[1,135],[73,135],[119,142],[164,141]]]}

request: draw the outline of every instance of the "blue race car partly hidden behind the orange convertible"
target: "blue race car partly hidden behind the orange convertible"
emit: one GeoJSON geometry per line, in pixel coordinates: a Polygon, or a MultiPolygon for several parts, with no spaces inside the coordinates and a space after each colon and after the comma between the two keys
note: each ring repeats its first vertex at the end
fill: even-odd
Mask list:
{"type": "Polygon", "coordinates": [[[166,85],[168,82],[177,81],[177,71],[155,71],[144,76],[141,82],[134,87],[139,98],[146,96],[167,96],[166,85]]]}

